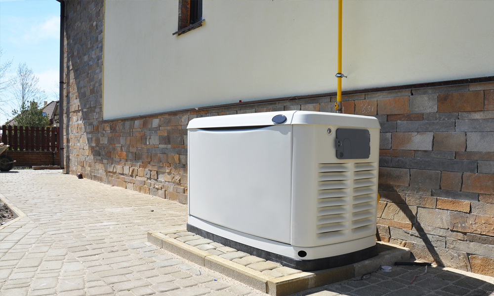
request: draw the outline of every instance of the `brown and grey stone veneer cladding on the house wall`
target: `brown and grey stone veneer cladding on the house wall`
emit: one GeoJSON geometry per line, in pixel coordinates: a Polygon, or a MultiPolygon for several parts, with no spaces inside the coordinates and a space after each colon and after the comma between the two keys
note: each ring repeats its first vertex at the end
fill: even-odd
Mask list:
{"type": "MultiPolygon", "coordinates": [[[[334,97],[292,98],[102,121],[103,1],[67,1],[66,16],[70,174],[186,203],[189,120],[333,111],[334,97]]],[[[381,124],[378,239],[407,246],[418,259],[492,276],[494,82],[368,92],[343,101],[345,113],[375,116],[381,124]]]]}

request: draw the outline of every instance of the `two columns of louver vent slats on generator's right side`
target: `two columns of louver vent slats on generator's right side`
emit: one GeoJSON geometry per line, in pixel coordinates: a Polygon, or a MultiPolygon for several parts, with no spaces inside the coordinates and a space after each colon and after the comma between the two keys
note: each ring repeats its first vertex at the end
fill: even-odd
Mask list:
{"type": "Polygon", "coordinates": [[[373,227],[377,163],[320,163],[318,178],[318,234],[339,237],[373,227]]]}

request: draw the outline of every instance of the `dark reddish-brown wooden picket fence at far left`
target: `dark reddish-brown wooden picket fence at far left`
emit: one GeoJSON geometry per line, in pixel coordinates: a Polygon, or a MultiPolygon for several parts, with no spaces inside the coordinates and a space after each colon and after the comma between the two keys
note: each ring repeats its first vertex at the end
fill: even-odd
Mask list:
{"type": "Polygon", "coordinates": [[[16,151],[58,151],[58,127],[1,127],[1,142],[16,151]]]}

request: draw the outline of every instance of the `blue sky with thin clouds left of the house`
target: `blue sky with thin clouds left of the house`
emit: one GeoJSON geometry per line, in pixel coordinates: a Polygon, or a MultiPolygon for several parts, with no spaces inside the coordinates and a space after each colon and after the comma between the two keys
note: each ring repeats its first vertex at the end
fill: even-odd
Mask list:
{"type": "MultiPolygon", "coordinates": [[[[0,63],[13,60],[11,74],[15,73],[19,63],[26,63],[39,77],[39,86],[45,90],[48,101],[58,99],[59,39],[60,2],[0,0],[0,47],[3,51],[0,63]]],[[[6,97],[11,94],[2,92],[0,95],[6,97]]],[[[4,105],[0,108],[7,109],[8,106],[4,105]]],[[[0,115],[1,124],[6,119],[0,115]]]]}

